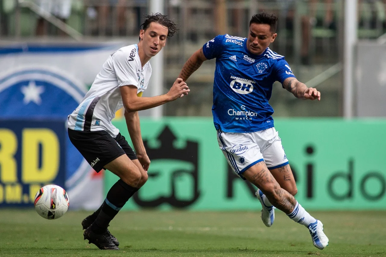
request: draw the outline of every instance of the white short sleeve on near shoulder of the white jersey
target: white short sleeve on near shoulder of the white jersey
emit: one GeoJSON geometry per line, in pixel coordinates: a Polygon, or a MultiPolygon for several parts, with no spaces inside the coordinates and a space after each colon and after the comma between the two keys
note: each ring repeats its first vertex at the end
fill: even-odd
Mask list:
{"type": "Polygon", "coordinates": [[[138,87],[137,63],[134,58],[130,60],[126,55],[123,51],[117,51],[112,55],[118,86],[134,85],[138,87]]]}

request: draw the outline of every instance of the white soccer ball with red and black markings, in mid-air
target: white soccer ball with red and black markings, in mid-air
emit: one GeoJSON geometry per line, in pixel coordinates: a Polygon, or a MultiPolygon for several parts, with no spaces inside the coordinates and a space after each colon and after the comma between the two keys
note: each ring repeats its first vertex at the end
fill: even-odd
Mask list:
{"type": "Polygon", "coordinates": [[[55,220],[66,213],[70,203],[63,188],[56,185],[47,185],[37,191],[34,205],[40,216],[47,220],[55,220]]]}

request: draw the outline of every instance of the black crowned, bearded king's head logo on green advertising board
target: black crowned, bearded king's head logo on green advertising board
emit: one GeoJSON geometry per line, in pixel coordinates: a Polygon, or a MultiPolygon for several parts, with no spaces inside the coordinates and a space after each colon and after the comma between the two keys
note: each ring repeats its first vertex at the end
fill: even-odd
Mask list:
{"type": "Polygon", "coordinates": [[[183,148],[175,147],[176,136],[165,126],[157,137],[160,145],[151,148],[144,140],[151,169],[146,187],[151,192],[139,190],[133,198],[142,207],[157,207],[163,203],[185,208],[200,196],[198,187],[198,143],[186,141],[183,148]]]}

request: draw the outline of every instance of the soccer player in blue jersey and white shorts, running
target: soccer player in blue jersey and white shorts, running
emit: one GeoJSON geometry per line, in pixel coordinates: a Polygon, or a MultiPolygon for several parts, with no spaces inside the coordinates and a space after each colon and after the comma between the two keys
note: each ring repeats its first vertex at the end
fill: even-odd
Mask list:
{"type": "Polygon", "coordinates": [[[275,81],[301,99],[320,100],[320,92],[298,81],[284,56],[269,49],[277,36],[276,25],[274,14],[253,15],[247,38],[228,34],[215,37],[186,61],[179,78],[186,81],[204,61],[216,58],[212,113],[218,145],[225,158],[241,178],[259,188],[256,196],[267,227],[273,224],[276,207],[305,225],[313,245],[324,249],[328,238],[322,222],[294,198],[295,179],[268,103],[275,81]]]}

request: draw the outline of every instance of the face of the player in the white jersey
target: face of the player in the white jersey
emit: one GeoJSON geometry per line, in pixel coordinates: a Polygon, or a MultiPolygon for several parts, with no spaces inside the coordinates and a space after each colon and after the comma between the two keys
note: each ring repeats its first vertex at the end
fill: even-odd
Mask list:
{"type": "Polygon", "coordinates": [[[165,46],[168,28],[161,24],[152,22],[146,30],[141,29],[139,37],[143,40],[142,45],[146,56],[153,57],[165,46]]]}

